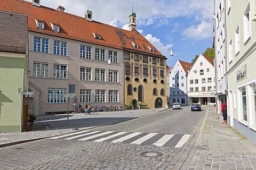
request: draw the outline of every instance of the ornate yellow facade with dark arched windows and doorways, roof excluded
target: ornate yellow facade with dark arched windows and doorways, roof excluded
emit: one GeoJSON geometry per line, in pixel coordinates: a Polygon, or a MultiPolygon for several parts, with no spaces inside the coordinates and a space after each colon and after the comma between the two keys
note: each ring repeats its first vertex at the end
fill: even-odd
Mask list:
{"type": "Polygon", "coordinates": [[[166,57],[124,53],[124,103],[135,109],[139,103],[147,108],[167,107],[166,57]]]}

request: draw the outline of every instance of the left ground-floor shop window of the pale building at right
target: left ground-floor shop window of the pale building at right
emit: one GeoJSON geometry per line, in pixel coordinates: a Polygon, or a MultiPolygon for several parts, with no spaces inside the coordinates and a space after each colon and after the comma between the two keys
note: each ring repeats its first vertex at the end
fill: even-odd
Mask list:
{"type": "Polygon", "coordinates": [[[241,107],[241,109],[240,109],[241,117],[242,117],[243,121],[247,122],[247,100],[246,100],[245,87],[240,88],[239,93],[240,93],[239,103],[240,103],[240,107],[241,107]]]}

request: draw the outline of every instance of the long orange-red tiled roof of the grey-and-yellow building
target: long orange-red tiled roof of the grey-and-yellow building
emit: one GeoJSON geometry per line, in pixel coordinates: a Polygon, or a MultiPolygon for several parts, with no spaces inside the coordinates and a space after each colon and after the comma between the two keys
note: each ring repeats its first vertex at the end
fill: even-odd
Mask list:
{"type": "Polygon", "coordinates": [[[128,31],[97,21],[90,22],[81,16],[42,5],[36,7],[32,3],[23,0],[1,0],[0,10],[27,14],[29,31],[166,58],[135,29],[128,31]],[[44,30],[37,29],[35,19],[44,21],[44,30]],[[51,23],[60,25],[59,33],[53,32],[51,23]],[[95,39],[92,32],[100,35],[101,40],[95,39]],[[139,48],[135,48],[131,41],[138,44],[139,48]],[[154,48],[155,52],[151,52],[147,46],[154,48]]]}

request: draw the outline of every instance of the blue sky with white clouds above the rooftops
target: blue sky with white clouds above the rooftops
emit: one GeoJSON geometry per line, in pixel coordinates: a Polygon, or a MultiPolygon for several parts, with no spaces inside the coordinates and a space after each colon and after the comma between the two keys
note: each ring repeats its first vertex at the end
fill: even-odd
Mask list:
{"type": "MultiPolygon", "coordinates": [[[[26,0],[32,2],[32,0],[26,0]]],[[[213,45],[214,0],[41,0],[41,5],[129,30],[129,14],[136,12],[136,29],[166,58],[191,63],[196,55],[213,45]],[[174,55],[170,56],[170,49],[174,55]]]]}

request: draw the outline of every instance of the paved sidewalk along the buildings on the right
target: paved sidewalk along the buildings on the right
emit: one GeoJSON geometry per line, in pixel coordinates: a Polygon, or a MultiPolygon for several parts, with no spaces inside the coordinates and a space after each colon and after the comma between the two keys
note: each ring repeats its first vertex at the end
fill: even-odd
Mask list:
{"type": "Polygon", "coordinates": [[[209,107],[188,169],[256,169],[256,146],[209,107]]]}

